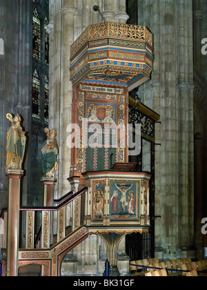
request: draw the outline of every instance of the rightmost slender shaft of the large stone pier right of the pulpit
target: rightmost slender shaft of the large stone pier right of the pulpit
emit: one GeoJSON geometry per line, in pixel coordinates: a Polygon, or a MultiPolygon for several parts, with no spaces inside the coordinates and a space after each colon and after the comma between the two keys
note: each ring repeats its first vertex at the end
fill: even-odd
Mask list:
{"type": "MultiPolygon", "coordinates": [[[[193,244],[193,4],[178,3],[179,247],[193,244]],[[191,19],[191,21],[190,21],[191,19]],[[188,68],[188,69],[187,69],[188,68]]],[[[201,41],[200,41],[201,42],[201,41]]]]}

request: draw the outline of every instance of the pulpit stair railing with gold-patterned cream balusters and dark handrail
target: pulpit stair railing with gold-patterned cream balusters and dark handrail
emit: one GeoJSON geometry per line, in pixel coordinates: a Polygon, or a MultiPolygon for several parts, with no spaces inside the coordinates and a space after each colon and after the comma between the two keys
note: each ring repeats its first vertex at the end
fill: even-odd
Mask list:
{"type": "MultiPolygon", "coordinates": [[[[68,234],[83,225],[83,211],[87,188],[77,193],[68,193],[57,206],[21,206],[19,236],[21,249],[50,249],[68,234]]],[[[1,212],[0,247],[6,248],[7,210],[1,212]]]]}

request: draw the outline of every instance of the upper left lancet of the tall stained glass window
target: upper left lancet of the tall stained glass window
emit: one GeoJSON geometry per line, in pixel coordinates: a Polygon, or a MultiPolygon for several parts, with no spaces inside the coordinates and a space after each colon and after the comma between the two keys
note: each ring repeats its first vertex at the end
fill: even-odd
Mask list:
{"type": "Polygon", "coordinates": [[[37,8],[33,12],[33,57],[41,59],[41,23],[39,19],[39,14],[37,8]]]}

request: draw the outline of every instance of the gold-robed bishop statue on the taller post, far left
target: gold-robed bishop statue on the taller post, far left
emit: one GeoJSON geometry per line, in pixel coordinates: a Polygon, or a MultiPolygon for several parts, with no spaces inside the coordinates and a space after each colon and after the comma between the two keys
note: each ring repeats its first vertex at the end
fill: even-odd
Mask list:
{"type": "Polygon", "coordinates": [[[6,138],[6,170],[21,169],[26,148],[26,132],[21,128],[21,117],[17,114],[14,119],[11,114],[6,117],[12,123],[6,138]]]}

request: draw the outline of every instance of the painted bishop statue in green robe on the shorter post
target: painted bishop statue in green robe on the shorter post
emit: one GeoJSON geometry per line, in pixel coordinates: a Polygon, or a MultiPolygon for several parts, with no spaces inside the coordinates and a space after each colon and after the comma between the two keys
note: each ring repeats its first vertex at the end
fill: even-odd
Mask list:
{"type": "Polygon", "coordinates": [[[50,131],[45,128],[48,139],[43,143],[41,148],[41,164],[43,168],[43,177],[55,177],[55,171],[57,171],[57,132],[55,129],[50,131]]]}

